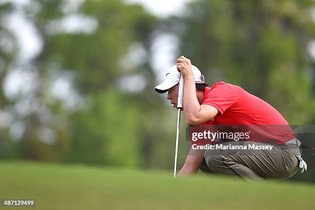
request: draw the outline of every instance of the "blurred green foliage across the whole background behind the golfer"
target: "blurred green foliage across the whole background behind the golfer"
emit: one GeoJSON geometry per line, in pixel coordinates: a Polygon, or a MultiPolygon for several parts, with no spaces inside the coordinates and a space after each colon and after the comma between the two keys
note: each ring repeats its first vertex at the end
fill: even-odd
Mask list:
{"type": "MultiPolygon", "coordinates": [[[[196,0],[181,16],[163,20],[116,0],[86,0],[77,11],[65,11],[66,2],[33,0],[23,8],[43,43],[27,64],[16,63],[14,36],[0,26],[0,37],[13,46],[0,47],[2,86],[9,66],[36,75],[27,96],[0,91],[2,111],[13,116],[1,128],[0,158],[172,168],[177,113],[153,91],[151,65],[152,42],[164,33],[179,38],[179,51],[210,85],[219,80],[240,85],[290,124],[315,122],[314,63],[307,51],[315,32],[311,0],[196,0]],[[96,29],[60,30],[60,21],[73,14],[95,20],[96,29]],[[129,55],[137,53],[135,46],[144,54],[136,64],[129,55]],[[139,83],[134,77],[143,80],[143,89],[132,89],[139,83]],[[67,96],[71,106],[51,93],[54,81],[64,78],[74,89],[67,96]],[[16,107],[25,100],[31,109],[21,114],[16,107]],[[24,128],[20,138],[12,136],[17,122],[24,128]]],[[[2,5],[0,18],[4,22],[16,10],[2,5]]],[[[186,156],[184,119],[181,127],[179,165],[186,156]]]]}

